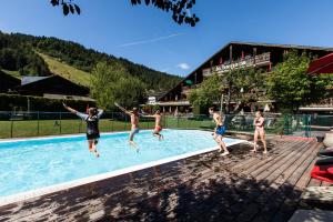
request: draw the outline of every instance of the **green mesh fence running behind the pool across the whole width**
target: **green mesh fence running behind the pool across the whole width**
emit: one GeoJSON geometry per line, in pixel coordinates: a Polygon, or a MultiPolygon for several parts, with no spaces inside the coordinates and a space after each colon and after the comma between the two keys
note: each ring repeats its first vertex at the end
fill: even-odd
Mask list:
{"type": "MultiPolygon", "coordinates": [[[[209,115],[162,115],[164,128],[213,129],[209,115]]],[[[225,127],[230,131],[253,132],[254,113],[226,114],[225,127]]],[[[333,125],[333,115],[265,114],[265,131],[276,134],[316,137],[333,125]]],[[[101,132],[130,130],[129,117],[105,112],[99,122],[101,132]]],[[[154,119],[140,118],[141,129],[152,129],[154,119]]],[[[69,112],[0,112],[0,138],[27,138],[39,135],[73,134],[85,132],[85,123],[69,112]]]]}

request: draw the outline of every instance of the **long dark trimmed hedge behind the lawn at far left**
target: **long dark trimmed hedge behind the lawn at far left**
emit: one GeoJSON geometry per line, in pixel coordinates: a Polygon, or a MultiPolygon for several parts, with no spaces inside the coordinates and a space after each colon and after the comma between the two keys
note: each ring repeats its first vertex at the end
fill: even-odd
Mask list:
{"type": "Polygon", "coordinates": [[[77,110],[85,111],[87,105],[94,107],[93,101],[82,100],[60,100],[60,99],[48,99],[41,97],[19,95],[19,94],[4,94],[0,93],[0,111],[12,111],[16,110],[28,110],[28,100],[30,101],[30,111],[49,111],[60,112],[64,111],[62,102],[77,110]]]}

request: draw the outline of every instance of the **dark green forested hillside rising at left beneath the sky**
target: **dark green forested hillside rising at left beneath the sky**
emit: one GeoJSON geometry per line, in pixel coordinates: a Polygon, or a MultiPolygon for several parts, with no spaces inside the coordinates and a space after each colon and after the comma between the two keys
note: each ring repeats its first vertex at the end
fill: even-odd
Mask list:
{"type": "MultiPolygon", "coordinates": [[[[91,73],[99,62],[107,62],[111,65],[117,62],[130,75],[141,80],[147,85],[147,89],[153,89],[155,91],[168,90],[180,81],[179,77],[135,64],[127,59],[115,58],[92,49],[85,49],[83,46],[71,41],[0,32],[1,69],[19,71],[22,75],[49,75],[51,71],[42,54],[88,73],[91,73]]],[[[87,84],[87,82],[84,83],[87,84]]]]}

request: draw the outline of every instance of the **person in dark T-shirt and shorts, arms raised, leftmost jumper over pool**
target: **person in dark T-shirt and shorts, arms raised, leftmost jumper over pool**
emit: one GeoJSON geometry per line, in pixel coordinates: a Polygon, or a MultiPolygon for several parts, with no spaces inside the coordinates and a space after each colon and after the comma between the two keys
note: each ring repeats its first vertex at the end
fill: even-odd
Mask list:
{"type": "Polygon", "coordinates": [[[65,105],[64,103],[62,104],[64,109],[67,109],[71,113],[77,114],[79,118],[81,118],[87,122],[87,140],[88,140],[89,151],[93,152],[94,155],[99,158],[100,154],[97,150],[97,144],[100,138],[99,119],[101,118],[103,110],[98,110],[97,108],[90,108],[88,114],[84,114],[82,112],[78,112],[77,110],[65,105]]]}

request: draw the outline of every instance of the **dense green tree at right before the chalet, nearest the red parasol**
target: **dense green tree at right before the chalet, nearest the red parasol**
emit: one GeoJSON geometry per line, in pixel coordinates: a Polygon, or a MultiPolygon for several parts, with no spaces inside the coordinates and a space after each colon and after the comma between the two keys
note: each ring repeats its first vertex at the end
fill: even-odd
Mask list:
{"type": "Polygon", "coordinates": [[[329,95],[324,75],[307,74],[311,57],[291,51],[284,61],[276,64],[269,78],[269,95],[278,105],[289,110],[299,110],[300,105],[317,102],[329,95]]]}

